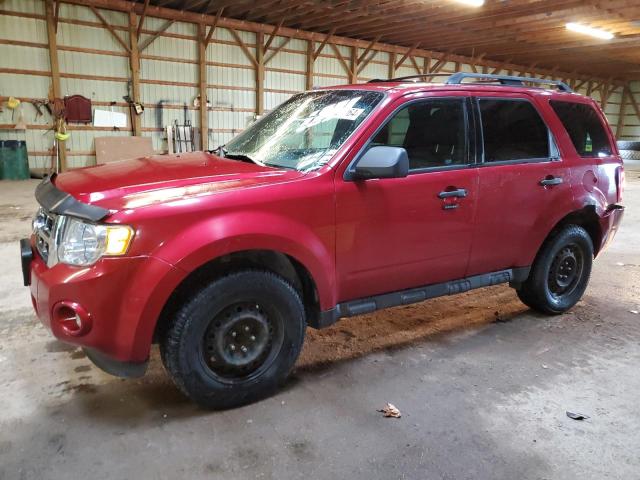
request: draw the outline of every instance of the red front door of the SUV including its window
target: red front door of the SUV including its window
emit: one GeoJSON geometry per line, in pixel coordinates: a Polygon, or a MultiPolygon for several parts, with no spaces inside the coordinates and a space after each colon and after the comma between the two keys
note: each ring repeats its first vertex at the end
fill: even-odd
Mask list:
{"type": "Polygon", "coordinates": [[[409,175],[336,178],[339,301],[465,275],[478,189],[467,103],[464,96],[400,101],[360,155],[403,147],[409,175]]]}

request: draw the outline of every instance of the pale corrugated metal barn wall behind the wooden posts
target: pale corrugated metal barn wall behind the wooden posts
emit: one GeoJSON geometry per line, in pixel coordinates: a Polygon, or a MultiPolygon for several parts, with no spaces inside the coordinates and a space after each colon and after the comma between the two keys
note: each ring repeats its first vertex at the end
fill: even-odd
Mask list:
{"type": "MultiPolygon", "coordinates": [[[[120,37],[128,42],[128,17],[121,12],[101,10],[106,20],[114,26],[120,37]]],[[[153,32],[166,23],[163,19],[147,18],[139,39],[143,43],[153,32]]],[[[255,55],[256,34],[237,32],[255,55]]],[[[98,21],[93,12],[83,6],[62,4],[57,34],[58,57],[63,95],[82,94],[92,99],[94,107],[124,112],[128,107],[123,96],[129,93],[129,59],[127,52],[113,35],[98,21]]],[[[269,57],[287,42],[276,37],[265,58],[264,108],[270,110],[296,92],[305,90],[307,41],[289,39],[284,48],[269,57]]],[[[317,48],[317,44],[316,44],[317,48]]],[[[326,45],[315,61],[313,85],[330,86],[344,84],[349,76],[336,55],[336,50],[347,64],[351,60],[351,47],[326,45]]],[[[364,53],[359,48],[357,57],[364,53]]],[[[369,63],[358,73],[358,81],[387,78],[390,56],[384,51],[371,50],[365,59],[369,63]]],[[[398,55],[399,56],[399,55],[398,55]]],[[[24,100],[44,99],[51,83],[44,0],[5,0],[0,3],[0,96],[15,96],[24,100]]],[[[153,139],[158,152],[167,149],[163,127],[174,120],[183,123],[190,120],[198,125],[198,109],[193,100],[198,95],[197,26],[175,22],[140,55],[140,95],[145,106],[142,118],[142,134],[153,139]]],[[[225,28],[217,28],[207,49],[209,145],[225,143],[245,128],[255,118],[255,71],[252,61],[225,28]]],[[[396,62],[399,58],[395,58],[396,62]]],[[[416,66],[424,71],[427,62],[433,66],[436,60],[407,58],[396,71],[396,76],[417,73],[416,66]]],[[[482,71],[482,67],[477,67],[482,71]]],[[[440,73],[457,70],[470,72],[471,65],[448,62],[440,73]]],[[[500,73],[509,73],[507,71],[500,73]]],[[[436,77],[435,81],[439,79],[436,77]]],[[[588,85],[580,89],[587,93],[588,85]]],[[[632,88],[640,103],[640,83],[632,88]]],[[[593,92],[596,100],[600,91],[593,92]]],[[[622,87],[612,90],[606,106],[609,121],[618,123],[622,87]]],[[[48,151],[53,143],[49,130],[50,117],[36,118],[35,109],[25,103],[22,114],[29,128],[26,131],[11,129],[18,113],[5,109],[0,113],[0,138],[27,141],[30,165],[42,168],[48,165],[48,151]]],[[[640,121],[631,106],[626,108],[625,138],[640,136],[640,121]]],[[[71,138],[67,141],[68,165],[80,167],[95,162],[94,138],[104,135],[131,135],[130,130],[114,131],[91,125],[71,125],[71,138]]]]}

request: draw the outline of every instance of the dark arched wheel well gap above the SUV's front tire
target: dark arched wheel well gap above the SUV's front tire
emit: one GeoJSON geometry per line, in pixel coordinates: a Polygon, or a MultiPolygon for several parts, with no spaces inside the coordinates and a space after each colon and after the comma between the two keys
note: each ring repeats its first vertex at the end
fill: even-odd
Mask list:
{"type": "Polygon", "coordinates": [[[267,270],[287,280],[300,294],[307,323],[314,325],[320,315],[320,300],[311,273],[295,258],[273,250],[246,250],[223,255],[191,272],[171,294],[162,309],[154,331],[157,342],[163,329],[181,305],[204,285],[231,272],[245,269],[267,270]]]}

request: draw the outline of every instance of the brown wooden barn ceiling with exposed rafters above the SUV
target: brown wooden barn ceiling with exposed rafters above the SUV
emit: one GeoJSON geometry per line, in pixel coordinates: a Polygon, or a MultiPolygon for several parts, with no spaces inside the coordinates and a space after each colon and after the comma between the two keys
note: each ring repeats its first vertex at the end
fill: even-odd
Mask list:
{"type": "MultiPolygon", "coordinates": [[[[142,13],[144,6],[144,2],[141,0],[138,2],[132,2],[131,0],[64,1],[71,4],[93,5],[96,8],[105,8],[121,12],[134,10],[138,15],[142,13]]],[[[273,31],[273,26],[254,23],[246,20],[246,18],[260,18],[261,21],[274,25],[282,18],[282,13],[290,9],[292,13],[288,14],[287,23],[294,25],[295,28],[283,26],[279,32],[279,35],[283,37],[312,40],[315,42],[316,39],[319,38],[318,34],[305,31],[303,29],[304,26],[316,32],[326,31],[330,26],[332,29],[336,29],[333,32],[334,34],[335,31],[339,30],[341,35],[343,35],[332,38],[332,41],[337,45],[348,47],[356,45],[359,48],[364,48],[368,42],[348,37],[366,36],[365,32],[367,30],[375,32],[375,28],[365,30],[364,27],[367,25],[375,26],[375,24],[378,23],[385,28],[387,25],[392,26],[393,31],[388,35],[384,35],[387,43],[378,44],[374,48],[378,51],[395,53],[400,56],[406,51],[406,47],[400,47],[399,44],[410,41],[411,35],[409,35],[409,33],[411,33],[413,29],[416,35],[422,35],[422,38],[416,37],[413,40],[414,42],[422,42],[422,48],[414,52],[415,56],[422,58],[426,56],[439,58],[442,55],[441,46],[447,45],[455,47],[455,49],[452,48],[452,52],[459,52],[451,53],[451,62],[468,63],[469,56],[462,54],[462,52],[468,52],[471,46],[478,44],[479,36],[482,35],[483,38],[489,38],[491,35],[495,35],[495,38],[501,38],[496,45],[481,42],[483,45],[486,45],[486,48],[483,47],[483,50],[487,51],[486,58],[488,59],[483,62],[483,67],[495,68],[505,57],[513,56],[513,62],[515,63],[505,65],[505,70],[507,71],[519,72],[522,71],[522,65],[526,65],[532,61],[539,61],[539,65],[541,66],[536,67],[535,71],[531,72],[532,74],[546,75],[548,74],[548,69],[545,68],[546,65],[559,64],[562,65],[563,68],[563,71],[559,73],[561,76],[566,76],[567,72],[577,71],[577,79],[581,81],[589,77],[602,79],[606,72],[607,77],[613,76],[616,85],[622,85],[626,81],[624,80],[624,72],[620,70],[625,68],[625,65],[627,66],[627,71],[630,72],[628,75],[636,75],[634,72],[637,71],[637,62],[631,60],[631,56],[634,55],[635,50],[637,50],[637,41],[634,43],[633,38],[629,38],[628,40],[624,40],[623,38],[621,41],[614,39],[606,44],[600,43],[600,46],[595,47],[593,43],[589,44],[581,40],[571,41],[571,39],[575,37],[571,37],[569,42],[567,42],[567,38],[564,37],[568,34],[564,27],[558,28],[557,32],[554,31],[553,35],[547,33],[549,29],[544,28],[549,23],[549,11],[553,11],[554,18],[563,22],[568,18],[584,15],[585,8],[590,9],[591,15],[593,15],[595,7],[593,7],[592,3],[595,2],[599,5],[598,8],[602,8],[605,0],[587,0],[587,2],[579,0],[556,0],[553,3],[551,3],[551,0],[538,0],[534,2],[535,4],[527,2],[526,6],[522,2],[509,2],[508,5],[504,2],[491,2],[491,4],[486,5],[478,15],[472,16],[468,14],[467,10],[460,10],[453,6],[438,6],[438,8],[435,8],[435,6],[431,6],[431,2],[418,2],[420,6],[407,10],[406,7],[402,5],[390,5],[389,2],[372,0],[367,2],[366,7],[360,9],[356,7],[357,0],[340,0],[338,3],[345,6],[345,11],[343,14],[339,14],[337,19],[331,17],[332,13],[335,14],[337,10],[334,2],[299,1],[299,3],[296,3],[293,7],[291,2],[282,2],[282,0],[266,0],[266,2],[267,3],[261,3],[259,7],[263,11],[262,16],[256,17],[253,13],[250,13],[257,11],[257,9],[254,8],[255,2],[252,3],[248,0],[216,0],[215,4],[218,8],[222,5],[230,5],[229,8],[231,9],[226,14],[227,16],[221,20],[219,26],[254,33],[263,32],[268,35],[273,31]],[[240,4],[242,7],[236,7],[236,5],[240,4]],[[382,5],[385,4],[389,6],[383,7],[382,5]],[[232,18],[235,15],[242,15],[242,12],[245,12],[245,16],[242,19],[232,18]],[[560,14],[556,15],[557,12],[560,12],[560,14]],[[406,18],[402,18],[403,16],[406,18]],[[305,21],[296,23],[296,18],[305,19],[305,21]],[[327,26],[322,27],[322,25],[327,26]],[[508,35],[504,36],[503,33],[509,28],[516,29],[517,31],[522,30],[524,32],[522,35],[527,35],[527,32],[531,32],[529,34],[530,41],[523,42],[522,40],[518,40],[516,37],[521,35],[514,34],[513,32],[509,33],[511,37],[508,35]],[[502,35],[502,37],[500,37],[500,35],[502,35]],[[457,40],[460,40],[463,36],[469,38],[469,43],[466,47],[463,43],[457,42],[457,40]],[[560,38],[561,36],[564,37],[560,38]],[[513,40],[510,40],[512,37],[513,40]],[[549,48],[545,51],[536,49],[537,46],[544,46],[545,42],[547,42],[549,48]],[[507,55],[504,51],[505,43],[519,45],[521,50],[519,53],[507,55]],[[559,49],[558,45],[560,44],[562,44],[562,48],[559,49]],[[580,48],[582,50],[580,50],[580,48]],[[599,50],[599,53],[595,51],[596,49],[599,50]],[[617,60],[616,58],[621,58],[616,57],[617,54],[615,52],[618,51],[624,52],[621,54],[626,55],[627,59],[617,60]],[[576,55],[577,52],[580,53],[576,55]],[[502,56],[499,54],[502,54],[502,56]],[[586,58],[589,60],[585,60],[586,58]],[[614,66],[611,66],[611,62],[616,63],[614,66]],[[586,65],[587,68],[581,68],[581,65],[586,65]],[[584,73],[585,70],[587,70],[588,73],[584,73]]],[[[406,3],[414,2],[408,1],[406,3]]],[[[454,5],[453,2],[446,3],[454,5]]],[[[211,25],[213,23],[214,17],[212,15],[203,14],[199,10],[188,10],[188,8],[190,8],[189,5],[194,6],[196,4],[194,1],[187,4],[187,10],[183,11],[161,6],[166,4],[167,3],[163,3],[162,0],[154,0],[148,7],[147,15],[194,24],[204,23],[211,25]]],[[[202,2],[198,2],[198,4],[201,5],[202,2]]],[[[624,12],[624,17],[628,19],[633,19],[640,15],[640,6],[629,7],[628,0],[607,0],[606,11],[608,12],[607,19],[609,17],[617,17],[615,21],[619,23],[622,21],[622,12],[624,12]]],[[[611,21],[613,22],[614,20],[611,21]]],[[[564,25],[564,23],[562,23],[562,25],[564,25]]],[[[602,26],[606,26],[606,23],[603,23],[602,26]]],[[[628,26],[628,22],[627,27],[624,28],[627,29],[626,36],[629,36],[631,33],[629,29],[631,27],[628,26]]],[[[381,33],[381,31],[378,31],[377,33],[369,35],[373,37],[381,33]]]]}

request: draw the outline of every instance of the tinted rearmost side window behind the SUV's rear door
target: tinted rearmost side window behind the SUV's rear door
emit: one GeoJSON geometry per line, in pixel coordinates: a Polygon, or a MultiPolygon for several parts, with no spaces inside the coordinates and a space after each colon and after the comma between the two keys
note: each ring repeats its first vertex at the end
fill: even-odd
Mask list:
{"type": "Polygon", "coordinates": [[[571,137],[578,155],[581,157],[611,155],[609,137],[598,113],[591,105],[559,100],[551,100],[550,103],[571,137]]]}

